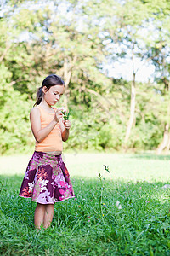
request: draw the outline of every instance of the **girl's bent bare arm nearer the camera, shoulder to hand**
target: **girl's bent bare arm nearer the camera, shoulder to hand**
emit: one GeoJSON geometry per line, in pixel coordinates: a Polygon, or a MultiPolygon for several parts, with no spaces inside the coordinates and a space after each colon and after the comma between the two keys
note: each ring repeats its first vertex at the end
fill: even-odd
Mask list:
{"type": "Polygon", "coordinates": [[[58,109],[54,115],[54,119],[45,128],[41,129],[40,111],[38,108],[31,109],[31,130],[37,143],[41,143],[44,138],[48,137],[48,134],[54,129],[54,126],[59,123],[61,117],[62,113],[58,109]]]}

